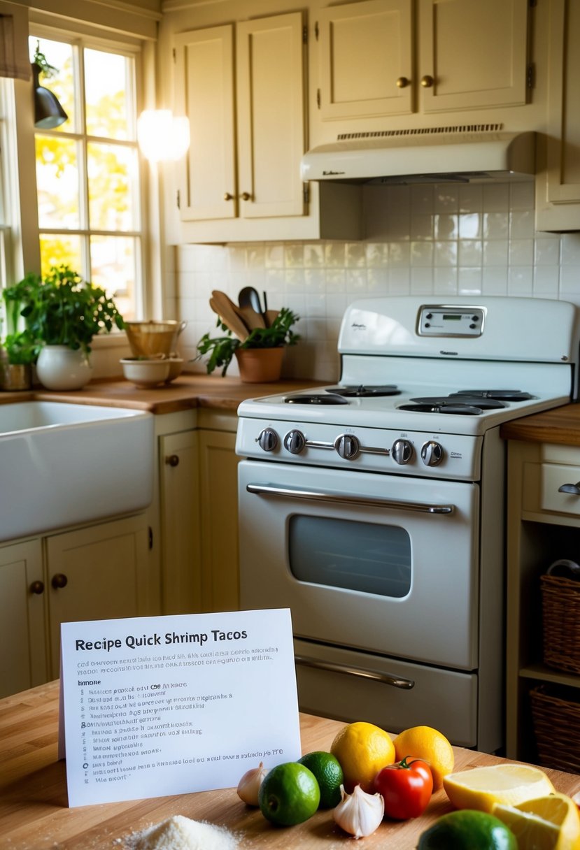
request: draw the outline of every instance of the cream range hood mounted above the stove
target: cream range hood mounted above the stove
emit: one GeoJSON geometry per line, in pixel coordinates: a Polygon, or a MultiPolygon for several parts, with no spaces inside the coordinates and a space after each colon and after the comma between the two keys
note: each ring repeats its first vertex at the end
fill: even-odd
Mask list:
{"type": "Polygon", "coordinates": [[[530,179],[535,133],[502,125],[347,133],[304,154],[303,180],[353,183],[490,183],[530,179]],[[487,129],[492,127],[492,129],[487,129]]]}

